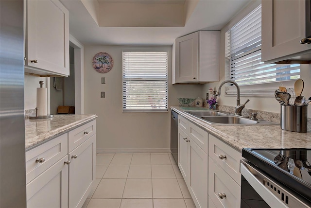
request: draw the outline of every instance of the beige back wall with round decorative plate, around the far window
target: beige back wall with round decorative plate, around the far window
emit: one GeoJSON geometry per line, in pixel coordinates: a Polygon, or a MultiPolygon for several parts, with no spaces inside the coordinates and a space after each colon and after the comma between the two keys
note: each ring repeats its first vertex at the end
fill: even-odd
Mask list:
{"type": "Polygon", "coordinates": [[[156,48],[169,52],[169,106],[178,105],[178,97],[196,98],[200,85],[172,85],[172,46],[85,46],[85,114],[97,114],[97,152],[169,152],[170,110],[166,113],[122,112],[122,50],[156,48]],[[107,52],[113,68],[98,73],[92,67],[96,53],[107,52]],[[101,78],[105,83],[101,84],[101,78]],[[101,91],[105,98],[101,98],[101,91]]]}

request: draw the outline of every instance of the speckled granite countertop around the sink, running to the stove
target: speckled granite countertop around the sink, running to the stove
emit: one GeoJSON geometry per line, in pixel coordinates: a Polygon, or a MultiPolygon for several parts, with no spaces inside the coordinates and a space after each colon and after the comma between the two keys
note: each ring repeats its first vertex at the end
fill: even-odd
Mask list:
{"type": "Polygon", "coordinates": [[[311,148],[310,131],[290,132],[280,125],[212,125],[185,113],[179,106],[171,109],[241,152],[242,148],[311,148]]]}

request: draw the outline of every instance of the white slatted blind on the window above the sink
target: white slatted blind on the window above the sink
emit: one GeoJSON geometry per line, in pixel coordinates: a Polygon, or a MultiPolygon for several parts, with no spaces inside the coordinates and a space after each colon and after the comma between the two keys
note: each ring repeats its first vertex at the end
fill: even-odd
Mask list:
{"type": "Polygon", "coordinates": [[[261,5],[226,33],[230,79],[238,85],[298,79],[299,64],[261,62],[261,5]]]}

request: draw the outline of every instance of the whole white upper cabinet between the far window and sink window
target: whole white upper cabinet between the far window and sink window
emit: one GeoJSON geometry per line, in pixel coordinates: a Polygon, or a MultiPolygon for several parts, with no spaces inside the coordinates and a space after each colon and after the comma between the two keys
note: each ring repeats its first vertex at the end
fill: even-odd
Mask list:
{"type": "Polygon", "coordinates": [[[177,38],[173,53],[172,84],[219,81],[220,31],[198,31],[177,38]]]}

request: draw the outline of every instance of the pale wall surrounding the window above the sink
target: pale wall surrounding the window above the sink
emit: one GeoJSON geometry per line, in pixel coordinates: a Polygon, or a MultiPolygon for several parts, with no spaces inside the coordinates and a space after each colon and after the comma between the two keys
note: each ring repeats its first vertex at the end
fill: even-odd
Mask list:
{"type": "MultiPolygon", "coordinates": [[[[209,87],[219,87],[220,83],[225,81],[225,33],[233,27],[236,23],[238,23],[243,17],[249,14],[252,10],[254,10],[260,1],[253,1],[247,7],[245,7],[236,17],[234,17],[225,27],[221,30],[221,45],[220,45],[220,82],[209,83],[203,86],[202,89],[202,97],[206,95],[209,87]]],[[[310,65],[301,65],[300,78],[304,80],[305,87],[303,91],[303,95],[309,98],[311,96],[310,88],[311,88],[311,68],[310,65]],[[309,94],[308,94],[309,93],[309,94]]],[[[294,87],[294,86],[293,86],[294,87]]],[[[225,96],[225,88],[222,87],[222,94],[217,98],[218,104],[235,106],[236,104],[236,96],[229,97],[225,96]]],[[[280,106],[274,97],[241,97],[241,104],[243,104],[247,99],[250,100],[245,105],[245,108],[262,110],[274,113],[280,113],[280,106]]],[[[308,112],[308,117],[311,117],[311,110],[308,112]]]]}

